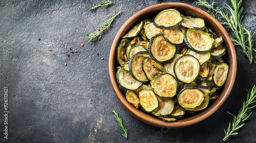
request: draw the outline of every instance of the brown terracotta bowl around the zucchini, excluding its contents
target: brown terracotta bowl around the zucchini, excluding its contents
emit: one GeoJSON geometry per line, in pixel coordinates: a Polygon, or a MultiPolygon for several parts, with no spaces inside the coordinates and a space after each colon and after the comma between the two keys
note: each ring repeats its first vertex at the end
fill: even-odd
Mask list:
{"type": "Polygon", "coordinates": [[[121,103],[121,105],[125,108],[126,111],[128,111],[131,115],[133,115],[139,121],[142,121],[146,124],[153,125],[156,127],[162,127],[162,128],[181,128],[181,127],[190,126],[205,120],[212,113],[218,110],[220,106],[225,102],[227,97],[229,96],[229,93],[232,90],[232,87],[234,84],[234,80],[236,78],[236,73],[237,73],[236,52],[234,50],[232,41],[228,36],[228,33],[223,28],[221,23],[218,20],[216,20],[214,17],[209,15],[207,12],[183,3],[163,3],[163,4],[153,5],[134,14],[123,24],[123,26],[120,28],[120,30],[116,34],[116,37],[111,47],[110,57],[109,57],[110,82],[118,101],[121,103]],[[135,26],[136,23],[146,18],[154,18],[156,14],[159,13],[161,10],[168,9],[168,8],[174,8],[183,15],[203,18],[205,20],[206,27],[214,31],[218,35],[218,37],[220,36],[223,37],[224,44],[226,46],[226,51],[227,51],[226,55],[224,56],[224,60],[229,65],[229,73],[227,75],[227,80],[220,92],[220,96],[212,104],[210,104],[209,107],[207,107],[207,109],[205,109],[204,111],[174,123],[163,122],[162,120],[155,117],[154,115],[145,113],[140,109],[136,109],[132,104],[127,102],[125,95],[120,90],[116,80],[116,71],[117,71],[116,67],[118,65],[118,62],[116,61],[116,48],[121,40],[121,37],[124,34],[126,34],[133,26],[135,26]]]}

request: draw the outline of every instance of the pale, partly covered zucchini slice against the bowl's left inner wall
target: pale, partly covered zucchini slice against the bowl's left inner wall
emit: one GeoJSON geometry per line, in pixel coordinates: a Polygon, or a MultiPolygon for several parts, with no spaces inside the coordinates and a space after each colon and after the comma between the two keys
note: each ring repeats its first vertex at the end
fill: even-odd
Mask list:
{"type": "Polygon", "coordinates": [[[117,68],[116,78],[118,84],[125,89],[135,90],[142,85],[142,82],[135,80],[130,72],[121,66],[117,68]]]}

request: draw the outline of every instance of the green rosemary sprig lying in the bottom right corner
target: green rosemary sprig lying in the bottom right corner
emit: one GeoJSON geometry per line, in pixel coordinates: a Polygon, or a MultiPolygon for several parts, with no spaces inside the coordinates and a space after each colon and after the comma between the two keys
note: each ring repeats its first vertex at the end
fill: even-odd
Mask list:
{"type": "Polygon", "coordinates": [[[247,90],[247,100],[243,102],[242,108],[239,110],[238,115],[232,115],[233,116],[233,122],[232,124],[229,123],[227,131],[225,132],[225,137],[223,138],[224,141],[226,141],[230,136],[237,135],[237,130],[244,126],[244,122],[248,119],[248,117],[251,115],[251,109],[256,107],[256,85],[254,85],[251,89],[251,92],[247,90]]]}

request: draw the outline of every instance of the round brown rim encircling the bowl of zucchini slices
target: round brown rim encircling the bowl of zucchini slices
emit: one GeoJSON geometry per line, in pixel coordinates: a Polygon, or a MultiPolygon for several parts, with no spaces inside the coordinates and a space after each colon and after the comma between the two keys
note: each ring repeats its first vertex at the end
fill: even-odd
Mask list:
{"type": "MultiPolygon", "coordinates": [[[[218,35],[219,36],[219,35],[218,35]]],[[[161,128],[181,128],[181,127],[187,127],[196,123],[199,123],[203,120],[205,120],[207,117],[209,117],[210,115],[212,115],[216,110],[218,110],[220,108],[220,106],[225,102],[225,100],[227,99],[227,97],[229,96],[229,93],[232,90],[234,81],[236,79],[236,74],[237,74],[237,57],[236,57],[236,51],[234,50],[234,46],[233,43],[227,33],[227,31],[225,30],[225,28],[221,25],[221,23],[215,19],[214,17],[212,17],[210,14],[208,14],[207,12],[188,5],[188,4],[184,4],[184,3],[162,3],[162,4],[156,4],[156,5],[152,5],[149,7],[146,7],[140,11],[138,11],[137,13],[135,13],[133,16],[131,16],[127,21],[125,21],[125,23],[122,25],[122,27],[119,29],[119,31],[117,32],[114,41],[112,43],[111,46],[111,51],[110,51],[110,57],[109,57],[109,77],[110,77],[110,82],[111,82],[111,86],[113,88],[113,91],[116,95],[116,98],[118,99],[118,101],[121,103],[121,105],[124,107],[124,109],[129,112],[132,116],[134,116],[135,118],[137,118],[137,120],[144,122],[146,124],[152,125],[152,126],[156,126],[156,127],[161,127],[161,128]],[[192,11],[198,11],[201,14],[203,14],[204,16],[208,17],[207,19],[209,20],[209,22],[214,22],[214,26],[218,27],[222,32],[221,34],[223,34],[223,40],[225,41],[226,45],[229,45],[229,49],[227,49],[228,52],[228,58],[229,58],[229,72],[228,72],[228,76],[227,76],[227,81],[225,83],[225,85],[223,86],[222,92],[220,93],[220,97],[216,99],[216,101],[214,103],[215,106],[209,106],[207,107],[206,110],[204,110],[203,112],[196,114],[192,117],[188,117],[188,118],[184,118],[182,120],[179,120],[177,122],[173,122],[173,123],[167,123],[167,122],[163,122],[160,119],[157,119],[155,116],[145,113],[139,109],[136,109],[132,104],[130,104],[129,102],[127,102],[125,96],[123,95],[122,91],[120,90],[117,81],[116,81],[116,47],[119,44],[119,41],[121,39],[121,37],[124,35],[123,29],[130,27],[132,25],[134,25],[135,22],[138,22],[138,20],[140,19],[140,15],[145,14],[145,13],[149,13],[149,12],[156,12],[157,10],[163,10],[163,9],[167,9],[167,8],[175,8],[175,7],[184,7],[184,8],[189,8],[192,11]],[[194,118],[193,120],[191,120],[191,118],[194,118]]]]}

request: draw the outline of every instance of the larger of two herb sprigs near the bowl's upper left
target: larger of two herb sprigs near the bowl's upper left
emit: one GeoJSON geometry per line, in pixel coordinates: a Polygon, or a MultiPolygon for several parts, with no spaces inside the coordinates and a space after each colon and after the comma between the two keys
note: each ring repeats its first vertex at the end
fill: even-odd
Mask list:
{"type": "Polygon", "coordinates": [[[94,29],[93,33],[86,34],[89,38],[88,41],[98,41],[101,39],[101,34],[104,30],[108,30],[111,26],[111,23],[114,21],[114,19],[121,13],[114,11],[114,15],[112,15],[108,20],[106,20],[104,23],[102,23],[100,26],[98,26],[98,29],[94,29]]]}

